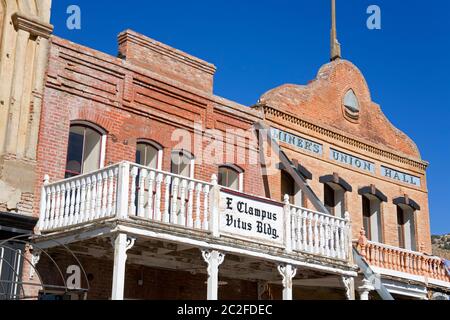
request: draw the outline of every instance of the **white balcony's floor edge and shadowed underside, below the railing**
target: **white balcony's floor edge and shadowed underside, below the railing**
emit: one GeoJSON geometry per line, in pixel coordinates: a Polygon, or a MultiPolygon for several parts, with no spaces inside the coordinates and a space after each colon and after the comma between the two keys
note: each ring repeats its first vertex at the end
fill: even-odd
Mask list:
{"type": "MultiPolygon", "coordinates": [[[[153,267],[204,269],[205,264],[200,250],[213,249],[226,253],[227,257],[236,256],[244,259],[246,262],[241,263],[241,267],[247,268],[249,275],[255,275],[255,265],[260,265],[261,262],[273,265],[292,264],[302,270],[299,271],[300,273],[315,272],[353,277],[357,275],[357,267],[344,261],[298,252],[288,254],[282,248],[237,240],[223,235],[220,238],[214,238],[204,231],[150,222],[137,217],[124,220],[109,218],[70,228],[66,227],[38,236],[34,242],[37,247],[43,249],[66,245],[75,248],[75,252],[82,254],[112,257],[111,237],[117,232],[125,232],[136,238],[135,246],[128,254],[130,261],[153,267]],[[161,254],[165,252],[170,252],[170,255],[161,254]],[[190,258],[193,253],[197,257],[196,259],[190,258]],[[183,262],[189,259],[192,259],[190,263],[183,262]],[[256,264],[255,261],[257,261],[256,264]]],[[[238,270],[231,269],[230,274],[235,274],[236,271],[238,270]]],[[[258,275],[256,278],[269,280],[270,277],[277,276],[277,272],[271,269],[261,272],[267,272],[270,276],[258,275]]],[[[242,273],[240,272],[240,274],[242,273]]]]}

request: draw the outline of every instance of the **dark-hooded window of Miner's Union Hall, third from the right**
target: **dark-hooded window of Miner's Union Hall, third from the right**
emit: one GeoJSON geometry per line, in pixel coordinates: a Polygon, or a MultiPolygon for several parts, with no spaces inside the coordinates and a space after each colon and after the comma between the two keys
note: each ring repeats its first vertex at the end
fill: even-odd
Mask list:
{"type": "Polygon", "coordinates": [[[352,187],[336,173],[323,176],[319,181],[324,185],[324,204],[328,212],[336,217],[345,218],[347,210],[345,193],[352,192],[352,187]]]}

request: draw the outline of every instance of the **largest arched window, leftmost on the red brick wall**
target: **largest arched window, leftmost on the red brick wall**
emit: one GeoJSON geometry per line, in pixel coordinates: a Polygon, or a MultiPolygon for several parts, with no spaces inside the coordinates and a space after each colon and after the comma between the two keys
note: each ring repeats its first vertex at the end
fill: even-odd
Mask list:
{"type": "Polygon", "coordinates": [[[85,123],[70,126],[65,177],[92,172],[103,167],[106,135],[85,123]]]}

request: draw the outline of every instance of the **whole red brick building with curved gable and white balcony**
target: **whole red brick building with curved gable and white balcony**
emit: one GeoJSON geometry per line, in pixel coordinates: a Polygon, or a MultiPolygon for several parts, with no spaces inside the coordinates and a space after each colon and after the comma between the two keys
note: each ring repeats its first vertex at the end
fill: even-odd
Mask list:
{"type": "MultiPolygon", "coordinates": [[[[89,299],[448,293],[429,255],[428,163],[340,57],[335,32],[313,81],[254,106],[214,95],[210,63],[131,30],[118,40],[113,57],[51,37],[34,244],[62,270],[83,269],[75,289],[89,299]]],[[[44,283],[59,281],[51,265],[41,255],[44,283]]]]}

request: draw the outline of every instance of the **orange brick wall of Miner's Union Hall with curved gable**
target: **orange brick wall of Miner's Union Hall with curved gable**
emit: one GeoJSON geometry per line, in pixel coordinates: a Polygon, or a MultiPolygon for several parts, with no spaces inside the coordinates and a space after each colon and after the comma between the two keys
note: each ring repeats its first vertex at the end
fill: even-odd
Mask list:
{"type": "MultiPolygon", "coordinates": [[[[324,186],[319,182],[322,176],[337,173],[352,186],[353,192],[346,193],[345,200],[353,222],[354,238],[359,236],[363,226],[362,199],[358,190],[374,185],[388,198],[381,208],[383,242],[398,246],[397,207],[393,200],[406,194],[421,207],[415,213],[417,249],[424,244],[425,251],[431,253],[427,163],[421,160],[414,142],[396,129],[380,107],[372,102],[365,79],[353,64],[345,60],[329,63],[307,86],[276,88],[264,94],[260,102],[277,110],[266,115],[273,126],[323,145],[323,155],[316,156],[282,143],[290,158],[297,159],[311,171],[310,185],[321,199],[324,197],[324,186]],[[343,97],[349,89],[354,90],[359,100],[357,121],[349,121],[343,113],[343,97]],[[375,163],[375,174],[331,161],[330,148],[375,163]],[[381,165],[419,177],[421,186],[382,177],[381,165]]],[[[280,178],[280,174],[269,177],[270,184],[280,185],[280,178]]],[[[281,199],[280,190],[273,188],[271,196],[281,199]]]]}

